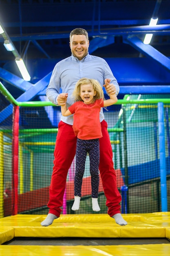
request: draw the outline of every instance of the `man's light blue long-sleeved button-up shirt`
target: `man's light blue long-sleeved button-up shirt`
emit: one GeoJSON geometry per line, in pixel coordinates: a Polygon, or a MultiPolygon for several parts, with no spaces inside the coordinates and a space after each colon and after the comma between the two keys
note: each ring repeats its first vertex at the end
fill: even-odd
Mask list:
{"type": "MultiPolygon", "coordinates": [[[[101,86],[104,85],[104,79],[111,79],[116,87],[117,94],[119,93],[119,84],[113,76],[108,63],[98,56],[87,54],[81,61],[71,55],[62,61],[59,61],[52,72],[49,85],[46,89],[48,99],[57,105],[57,96],[61,92],[68,93],[67,107],[73,104],[72,93],[75,84],[80,78],[96,79],[101,86]]],[[[73,115],[61,117],[61,120],[66,124],[73,125],[73,115]]],[[[103,108],[100,111],[100,121],[104,120],[103,108]]]]}

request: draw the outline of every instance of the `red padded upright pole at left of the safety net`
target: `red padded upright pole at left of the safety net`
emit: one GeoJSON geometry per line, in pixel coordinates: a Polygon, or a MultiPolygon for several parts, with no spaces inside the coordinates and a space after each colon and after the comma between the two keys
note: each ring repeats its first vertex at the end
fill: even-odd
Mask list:
{"type": "Polygon", "coordinates": [[[18,144],[19,144],[19,106],[13,106],[12,137],[12,215],[18,214],[18,144]]]}

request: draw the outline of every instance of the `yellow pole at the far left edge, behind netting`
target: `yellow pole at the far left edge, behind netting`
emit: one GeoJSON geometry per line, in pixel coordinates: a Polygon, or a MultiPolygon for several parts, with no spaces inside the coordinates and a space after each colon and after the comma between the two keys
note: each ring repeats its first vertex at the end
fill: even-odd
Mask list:
{"type": "Polygon", "coordinates": [[[0,218],[4,217],[4,138],[0,132],[0,218]]]}

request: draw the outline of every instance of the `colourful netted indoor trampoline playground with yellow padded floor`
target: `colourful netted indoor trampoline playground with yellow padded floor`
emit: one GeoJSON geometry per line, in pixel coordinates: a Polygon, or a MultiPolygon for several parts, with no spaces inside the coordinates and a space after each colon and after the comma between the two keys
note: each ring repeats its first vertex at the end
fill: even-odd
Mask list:
{"type": "Polygon", "coordinates": [[[0,255],[170,255],[170,94],[128,94],[104,110],[128,225],[119,226],[108,216],[101,180],[101,211],[92,211],[87,155],[79,210],[71,210],[74,159],[62,215],[42,227],[60,107],[45,98],[17,101],[1,82],[0,91],[0,255]],[[117,244],[117,239],[126,242],[117,244]]]}

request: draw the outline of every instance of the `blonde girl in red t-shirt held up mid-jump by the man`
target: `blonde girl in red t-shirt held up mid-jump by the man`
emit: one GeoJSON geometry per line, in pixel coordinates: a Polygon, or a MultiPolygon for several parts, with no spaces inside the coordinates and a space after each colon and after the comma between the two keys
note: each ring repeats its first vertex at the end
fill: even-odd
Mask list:
{"type": "MultiPolygon", "coordinates": [[[[105,85],[110,79],[105,79],[105,85]]],[[[61,93],[60,97],[66,99],[68,93],[61,93]]],[[[102,137],[99,112],[102,107],[117,102],[116,94],[110,94],[110,99],[104,99],[101,85],[95,79],[82,78],[75,85],[73,91],[75,103],[68,109],[66,103],[61,106],[63,116],[73,115],[73,130],[77,136],[76,168],[74,180],[74,204],[72,210],[79,209],[82,180],[85,170],[86,155],[89,154],[92,186],[92,209],[100,211],[98,204],[99,191],[99,138],[102,137]]]]}

